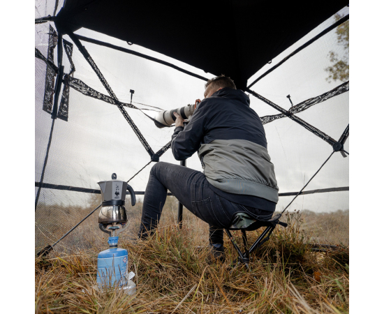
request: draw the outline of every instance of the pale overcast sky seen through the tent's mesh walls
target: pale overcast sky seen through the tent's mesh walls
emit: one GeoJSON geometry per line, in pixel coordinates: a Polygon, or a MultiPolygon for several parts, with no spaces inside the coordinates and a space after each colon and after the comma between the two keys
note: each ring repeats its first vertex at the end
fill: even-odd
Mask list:
{"type": "MultiPolygon", "coordinates": [[[[348,13],[348,9],[343,11],[348,13]]],[[[330,18],[320,27],[311,31],[293,47],[273,59],[272,64],[267,64],[260,69],[249,79],[249,83],[333,22],[333,18],[330,18]]],[[[36,47],[42,52],[46,52],[47,49],[47,36],[44,35],[47,33],[47,26],[47,23],[36,25],[36,47]]],[[[214,77],[211,73],[205,73],[181,61],[138,45],[128,45],[122,40],[101,33],[87,29],[80,29],[76,33],[163,59],[207,78],[214,77]]],[[[71,41],[68,36],[64,36],[64,38],[71,41]]],[[[135,90],[134,105],[136,105],[135,103],[144,103],[165,110],[175,109],[194,103],[197,98],[203,98],[205,82],[202,80],[131,54],[87,42],[82,44],[93,57],[101,73],[115,91],[117,98],[123,102],[129,103],[130,89],[135,90]]],[[[330,66],[330,61],[327,58],[330,50],[339,54],[343,53],[342,47],[337,45],[334,31],[323,36],[288,60],[283,66],[260,80],[252,87],[253,91],[281,107],[289,109],[290,103],[286,98],[288,94],[296,105],[307,98],[318,96],[337,87],[341,82],[328,83],[325,81],[327,73],[324,69],[330,66]]],[[[76,67],[74,77],[97,91],[108,94],[82,54],[78,52],[77,47],[74,47],[73,50],[73,61],[76,67]]],[[[64,72],[68,73],[70,66],[65,55],[64,67],[64,72]]],[[[36,181],[40,179],[45,147],[52,122],[50,115],[41,110],[45,81],[44,72],[45,63],[36,59],[36,85],[40,86],[36,89],[37,105],[35,112],[36,181]]],[[[315,105],[309,110],[297,114],[297,116],[338,140],[349,121],[348,94],[345,93],[315,105]]],[[[278,113],[253,96],[250,98],[251,107],[260,117],[278,113]]],[[[149,162],[147,151],[142,147],[115,105],[83,96],[74,89],[71,89],[69,99],[68,122],[59,119],[55,122],[50,156],[45,172],[44,181],[46,183],[98,188],[97,182],[110,179],[112,172],[117,173],[118,179],[126,181],[149,162]]],[[[138,107],[145,108],[142,105],[138,105],[138,107]]],[[[131,108],[126,108],[126,111],[154,151],[169,142],[173,128],[158,129],[142,112],[131,108]]],[[[147,114],[154,116],[155,112],[149,111],[147,114]]],[[[266,124],[265,132],[269,155],[275,165],[280,192],[300,190],[332,153],[329,144],[288,118],[266,124]]],[[[346,142],[347,151],[349,151],[348,142],[346,142]]],[[[170,150],[161,157],[161,161],[179,163],[172,157],[170,150]]],[[[129,183],[135,190],[145,190],[152,165],[154,163],[150,164],[129,183]]],[[[349,158],[343,158],[341,154],[335,153],[306,190],[348,186],[348,165],[349,158]]],[[[187,160],[187,166],[201,171],[200,161],[196,154],[187,160]]],[[[88,197],[82,193],[43,190],[43,196],[40,196],[42,197],[41,200],[43,200],[44,195],[47,199],[54,195],[54,200],[64,204],[78,204],[84,202],[88,197]]],[[[292,198],[280,197],[277,208],[283,209],[292,198]]],[[[311,209],[313,211],[348,209],[348,192],[300,196],[297,197],[291,208],[311,209]]]]}

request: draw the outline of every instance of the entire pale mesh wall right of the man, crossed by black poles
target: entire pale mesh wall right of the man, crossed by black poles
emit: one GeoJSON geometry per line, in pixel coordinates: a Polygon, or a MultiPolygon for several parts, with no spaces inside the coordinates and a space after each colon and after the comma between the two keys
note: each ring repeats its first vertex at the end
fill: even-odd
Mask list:
{"type": "MultiPolygon", "coordinates": [[[[341,10],[340,14],[348,14],[348,8],[341,10]]],[[[305,38],[276,57],[271,65],[266,65],[259,70],[250,78],[249,82],[256,80],[268,68],[274,66],[334,21],[334,17],[331,17],[320,27],[311,31],[305,38]]],[[[293,105],[320,96],[342,83],[340,80],[327,80],[329,73],[325,69],[332,64],[329,57],[330,52],[348,57],[348,52],[345,51],[343,45],[337,43],[335,31],[330,31],[295,54],[279,68],[263,77],[251,89],[285,110],[289,110],[292,106],[287,98],[288,95],[293,101],[293,105]]],[[[349,123],[348,96],[347,91],[295,115],[333,137],[334,140],[339,140],[349,123]]],[[[253,96],[251,96],[251,107],[258,112],[260,117],[279,113],[253,96]]],[[[332,153],[330,144],[288,117],[265,124],[265,133],[268,151],[275,165],[280,193],[298,192],[332,153]]],[[[344,148],[348,151],[348,140],[344,144],[344,148]]],[[[348,187],[348,167],[349,158],[344,158],[339,152],[334,153],[305,190],[348,187]]],[[[316,212],[346,210],[349,208],[348,194],[348,191],[338,191],[302,195],[290,205],[290,210],[307,209],[316,212]]],[[[277,209],[284,209],[293,200],[293,197],[279,197],[277,209]]]]}

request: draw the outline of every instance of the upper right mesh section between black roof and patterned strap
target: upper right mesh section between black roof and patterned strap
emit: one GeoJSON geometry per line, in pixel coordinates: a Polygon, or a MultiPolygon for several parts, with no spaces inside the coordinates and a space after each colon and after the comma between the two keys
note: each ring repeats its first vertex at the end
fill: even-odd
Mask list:
{"type": "MultiPolygon", "coordinates": [[[[337,14],[339,16],[348,15],[349,8],[343,8],[337,14]]],[[[249,78],[248,83],[251,84],[251,82],[260,77],[260,75],[263,75],[269,68],[272,68],[272,66],[283,61],[289,54],[293,53],[297,48],[307,43],[311,38],[315,37],[335,22],[335,16],[327,19],[316,27],[316,29],[313,29],[313,31],[309,32],[287,50],[279,54],[279,56],[272,59],[271,63],[265,64],[263,68],[249,78]]],[[[297,98],[293,98],[293,103],[299,103],[301,101],[300,98],[304,100],[311,96],[315,96],[316,94],[313,93],[318,91],[320,91],[318,93],[318,95],[320,95],[322,92],[332,89],[334,87],[332,87],[332,84],[340,84],[341,82],[331,81],[328,84],[324,80],[325,77],[328,76],[327,73],[325,73],[325,68],[331,65],[328,54],[333,51],[337,52],[339,57],[345,55],[348,59],[348,50],[344,50],[343,45],[338,44],[337,40],[336,29],[328,32],[311,43],[311,45],[305,47],[304,50],[298,52],[293,57],[290,57],[288,61],[284,62],[281,66],[276,68],[276,70],[263,77],[263,79],[257,82],[257,85],[254,85],[252,89],[260,92],[260,94],[263,94],[272,101],[281,100],[281,105],[286,103],[288,106],[290,103],[286,96],[293,93],[292,88],[302,87],[302,89],[297,89],[297,98]],[[344,52],[346,52],[346,54],[344,54],[344,52]],[[320,80],[314,82],[314,77],[318,77],[320,80]],[[277,98],[273,98],[274,96],[277,98]]]]}

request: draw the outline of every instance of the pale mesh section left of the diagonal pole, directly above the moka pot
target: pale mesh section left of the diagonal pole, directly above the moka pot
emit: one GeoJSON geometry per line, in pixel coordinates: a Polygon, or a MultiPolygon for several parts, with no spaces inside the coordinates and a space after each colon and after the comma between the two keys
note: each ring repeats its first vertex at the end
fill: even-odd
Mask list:
{"type": "MultiPolygon", "coordinates": [[[[113,172],[128,180],[148,163],[147,151],[116,106],[74,90],[70,97],[68,122],[57,119],[54,126],[57,136],[52,138],[45,182],[98,188],[97,182],[110,179],[113,172]]],[[[133,119],[137,115],[132,112],[133,119]]]]}

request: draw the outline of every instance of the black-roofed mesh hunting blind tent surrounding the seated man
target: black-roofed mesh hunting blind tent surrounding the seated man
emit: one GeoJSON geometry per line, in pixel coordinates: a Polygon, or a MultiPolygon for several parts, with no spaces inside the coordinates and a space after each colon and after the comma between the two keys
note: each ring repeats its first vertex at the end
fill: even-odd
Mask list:
{"type": "MultiPolygon", "coordinates": [[[[98,181],[115,172],[143,195],[156,161],[178,163],[153,117],[221,74],[263,121],[276,210],[348,209],[348,18],[344,0],[36,0],[36,252],[85,217],[97,228],[98,181]]],[[[54,249],[87,241],[80,224],[54,249]]]]}

